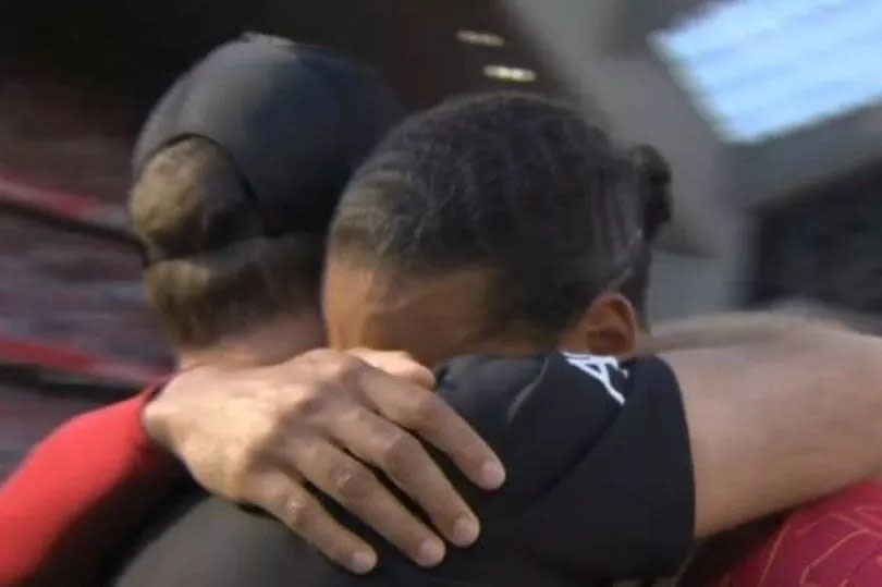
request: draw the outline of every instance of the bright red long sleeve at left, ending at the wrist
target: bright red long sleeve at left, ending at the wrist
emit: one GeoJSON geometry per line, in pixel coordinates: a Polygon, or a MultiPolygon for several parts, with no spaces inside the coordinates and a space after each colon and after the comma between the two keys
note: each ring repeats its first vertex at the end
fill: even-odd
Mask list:
{"type": "Polygon", "coordinates": [[[140,412],[155,389],[73,418],[0,487],[0,585],[91,585],[114,547],[185,479],[140,412]]]}

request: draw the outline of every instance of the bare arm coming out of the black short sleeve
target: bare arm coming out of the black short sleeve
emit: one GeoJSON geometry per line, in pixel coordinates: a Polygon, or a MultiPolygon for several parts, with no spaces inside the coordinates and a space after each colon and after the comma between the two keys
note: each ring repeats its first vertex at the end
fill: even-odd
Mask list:
{"type": "Polygon", "coordinates": [[[699,536],[828,494],[882,464],[882,343],[797,322],[662,355],[683,390],[699,536]]]}

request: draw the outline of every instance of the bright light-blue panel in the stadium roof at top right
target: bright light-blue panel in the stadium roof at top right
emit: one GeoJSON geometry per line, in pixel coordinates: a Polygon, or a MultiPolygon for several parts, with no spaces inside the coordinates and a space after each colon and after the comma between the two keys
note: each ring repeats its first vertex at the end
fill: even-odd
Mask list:
{"type": "Polygon", "coordinates": [[[882,0],[715,2],[650,41],[730,140],[882,98],[882,0]]]}

